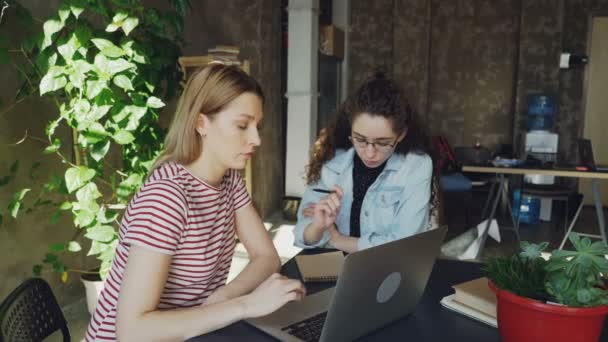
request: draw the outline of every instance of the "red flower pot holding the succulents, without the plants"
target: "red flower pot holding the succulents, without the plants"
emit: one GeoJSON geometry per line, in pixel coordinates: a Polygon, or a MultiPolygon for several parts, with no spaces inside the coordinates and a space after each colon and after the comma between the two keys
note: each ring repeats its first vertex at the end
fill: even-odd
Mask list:
{"type": "Polygon", "coordinates": [[[488,283],[496,293],[498,331],[504,342],[596,342],[608,305],[573,308],[520,297],[488,283]]]}

